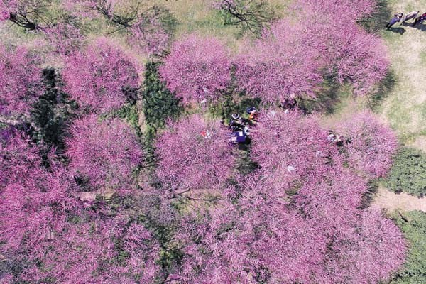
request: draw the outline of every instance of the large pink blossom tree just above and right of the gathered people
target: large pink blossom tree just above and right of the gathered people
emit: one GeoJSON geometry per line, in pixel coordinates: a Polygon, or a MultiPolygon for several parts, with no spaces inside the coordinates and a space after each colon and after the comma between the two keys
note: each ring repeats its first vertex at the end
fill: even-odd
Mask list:
{"type": "Polygon", "coordinates": [[[242,50],[235,60],[239,89],[268,103],[315,97],[322,82],[322,50],[307,45],[307,29],[302,23],[278,21],[249,50],[242,50]]]}

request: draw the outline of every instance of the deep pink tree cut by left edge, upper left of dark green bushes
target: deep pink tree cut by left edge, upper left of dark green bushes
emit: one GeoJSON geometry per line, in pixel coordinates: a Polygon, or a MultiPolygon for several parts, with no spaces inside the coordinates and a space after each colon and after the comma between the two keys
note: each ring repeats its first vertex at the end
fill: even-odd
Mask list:
{"type": "Polygon", "coordinates": [[[26,48],[0,45],[1,122],[17,124],[29,115],[43,92],[42,71],[37,64],[37,57],[26,48]]]}

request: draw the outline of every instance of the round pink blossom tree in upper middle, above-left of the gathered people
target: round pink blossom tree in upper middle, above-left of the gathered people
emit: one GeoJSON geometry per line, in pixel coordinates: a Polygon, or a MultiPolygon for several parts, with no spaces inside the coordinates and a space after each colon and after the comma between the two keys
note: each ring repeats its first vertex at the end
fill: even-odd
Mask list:
{"type": "Polygon", "coordinates": [[[217,99],[229,86],[230,70],[229,52],[222,43],[188,35],[173,44],[160,76],[184,104],[190,104],[217,99]]]}

